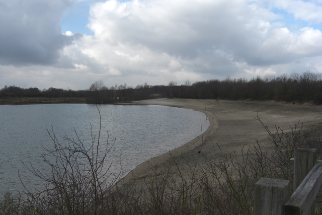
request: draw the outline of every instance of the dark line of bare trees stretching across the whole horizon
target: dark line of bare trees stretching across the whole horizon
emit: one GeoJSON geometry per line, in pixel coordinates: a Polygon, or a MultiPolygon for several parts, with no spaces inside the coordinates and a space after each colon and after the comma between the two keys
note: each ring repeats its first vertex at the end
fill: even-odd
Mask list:
{"type": "Polygon", "coordinates": [[[106,104],[159,97],[191,99],[252,99],[287,102],[313,102],[322,104],[322,74],[305,71],[302,74],[257,77],[251,80],[231,79],[208,80],[191,84],[189,80],[178,86],[169,82],[167,86],[150,86],[147,83],[135,88],[123,85],[104,86],[103,81],[94,82],[88,90],[63,90],[49,88],[20,88],[5,86],[0,98],[8,97],[85,97],[87,103],[106,104]]]}

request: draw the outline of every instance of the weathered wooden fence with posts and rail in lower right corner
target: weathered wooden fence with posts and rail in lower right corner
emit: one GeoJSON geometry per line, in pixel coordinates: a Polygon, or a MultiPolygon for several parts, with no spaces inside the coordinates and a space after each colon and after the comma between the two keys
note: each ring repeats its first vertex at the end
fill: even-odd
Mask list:
{"type": "Polygon", "coordinates": [[[322,161],[316,149],[297,149],[290,172],[294,173],[294,193],[290,181],[262,178],[255,184],[254,214],[314,214],[314,200],[322,184],[322,161]]]}

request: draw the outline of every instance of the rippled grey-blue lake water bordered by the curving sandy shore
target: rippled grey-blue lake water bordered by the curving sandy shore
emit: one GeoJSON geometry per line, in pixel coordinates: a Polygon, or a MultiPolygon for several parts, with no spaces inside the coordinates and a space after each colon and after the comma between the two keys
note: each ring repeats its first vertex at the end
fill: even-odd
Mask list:
{"type": "MultiPolygon", "coordinates": [[[[98,105],[102,119],[102,140],[115,139],[106,165],[116,175],[125,175],[138,164],[169,152],[199,136],[209,125],[204,113],[157,105],[98,105]]],[[[22,162],[50,173],[43,162],[42,146],[52,149],[47,133],[54,130],[57,139],[75,137],[74,129],[84,142],[91,143],[99,129],[99,112],[91,104],[41,104],[0,106],[0,194],[7,190],[22,191],[18,171],[28,189],[42,188],[43,181],[34,177],[22,162]],[[91,123],[91,124],[90,124],[91,123]]]]}

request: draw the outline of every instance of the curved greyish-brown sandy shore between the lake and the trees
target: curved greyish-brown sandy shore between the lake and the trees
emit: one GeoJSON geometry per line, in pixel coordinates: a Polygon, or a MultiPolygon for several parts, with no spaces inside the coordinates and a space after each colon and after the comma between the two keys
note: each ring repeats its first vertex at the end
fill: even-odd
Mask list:
{"type": "Polygon", "coordinates": [[[169,166],[169,160],[176,161],[176,167],[171,170],[174,171],[173,177],[176,177],[176,170],[189,174],[189,170],[195,168],[198,172],[200,167],[207,165],[205,158],[213,159],[220,154],[233,152],[240,155],[243,146],[253,146],[256,140],[262,146],[270,147],[265,128],[254,119],[257,115],[271,131],[275,130],[275,125],[282,127],[284,131],[289,131],[290,125],[303,122],[302,130],[309,132],[317,130],[322,135],[322,106],[192,99],[152,99],[135,101],[133,104],[167,105],[206,112],[211,125],[202,136],[184,146],[138,165],[118,183],[120,188],[125,188],[132,182],[144,184],[141,182],[155,172],[162,174],[169,166]]]}

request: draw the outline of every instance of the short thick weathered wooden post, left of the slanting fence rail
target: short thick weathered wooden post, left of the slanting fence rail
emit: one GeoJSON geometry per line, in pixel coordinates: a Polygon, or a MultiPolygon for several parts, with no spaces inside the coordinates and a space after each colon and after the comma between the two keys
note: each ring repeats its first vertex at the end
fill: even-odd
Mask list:
{"type": "Polygon", "coordinates": [[[255,184],[254,214],[283,214],[283,205],[290,197],[290,181],[261,178],[255,184]]]}

